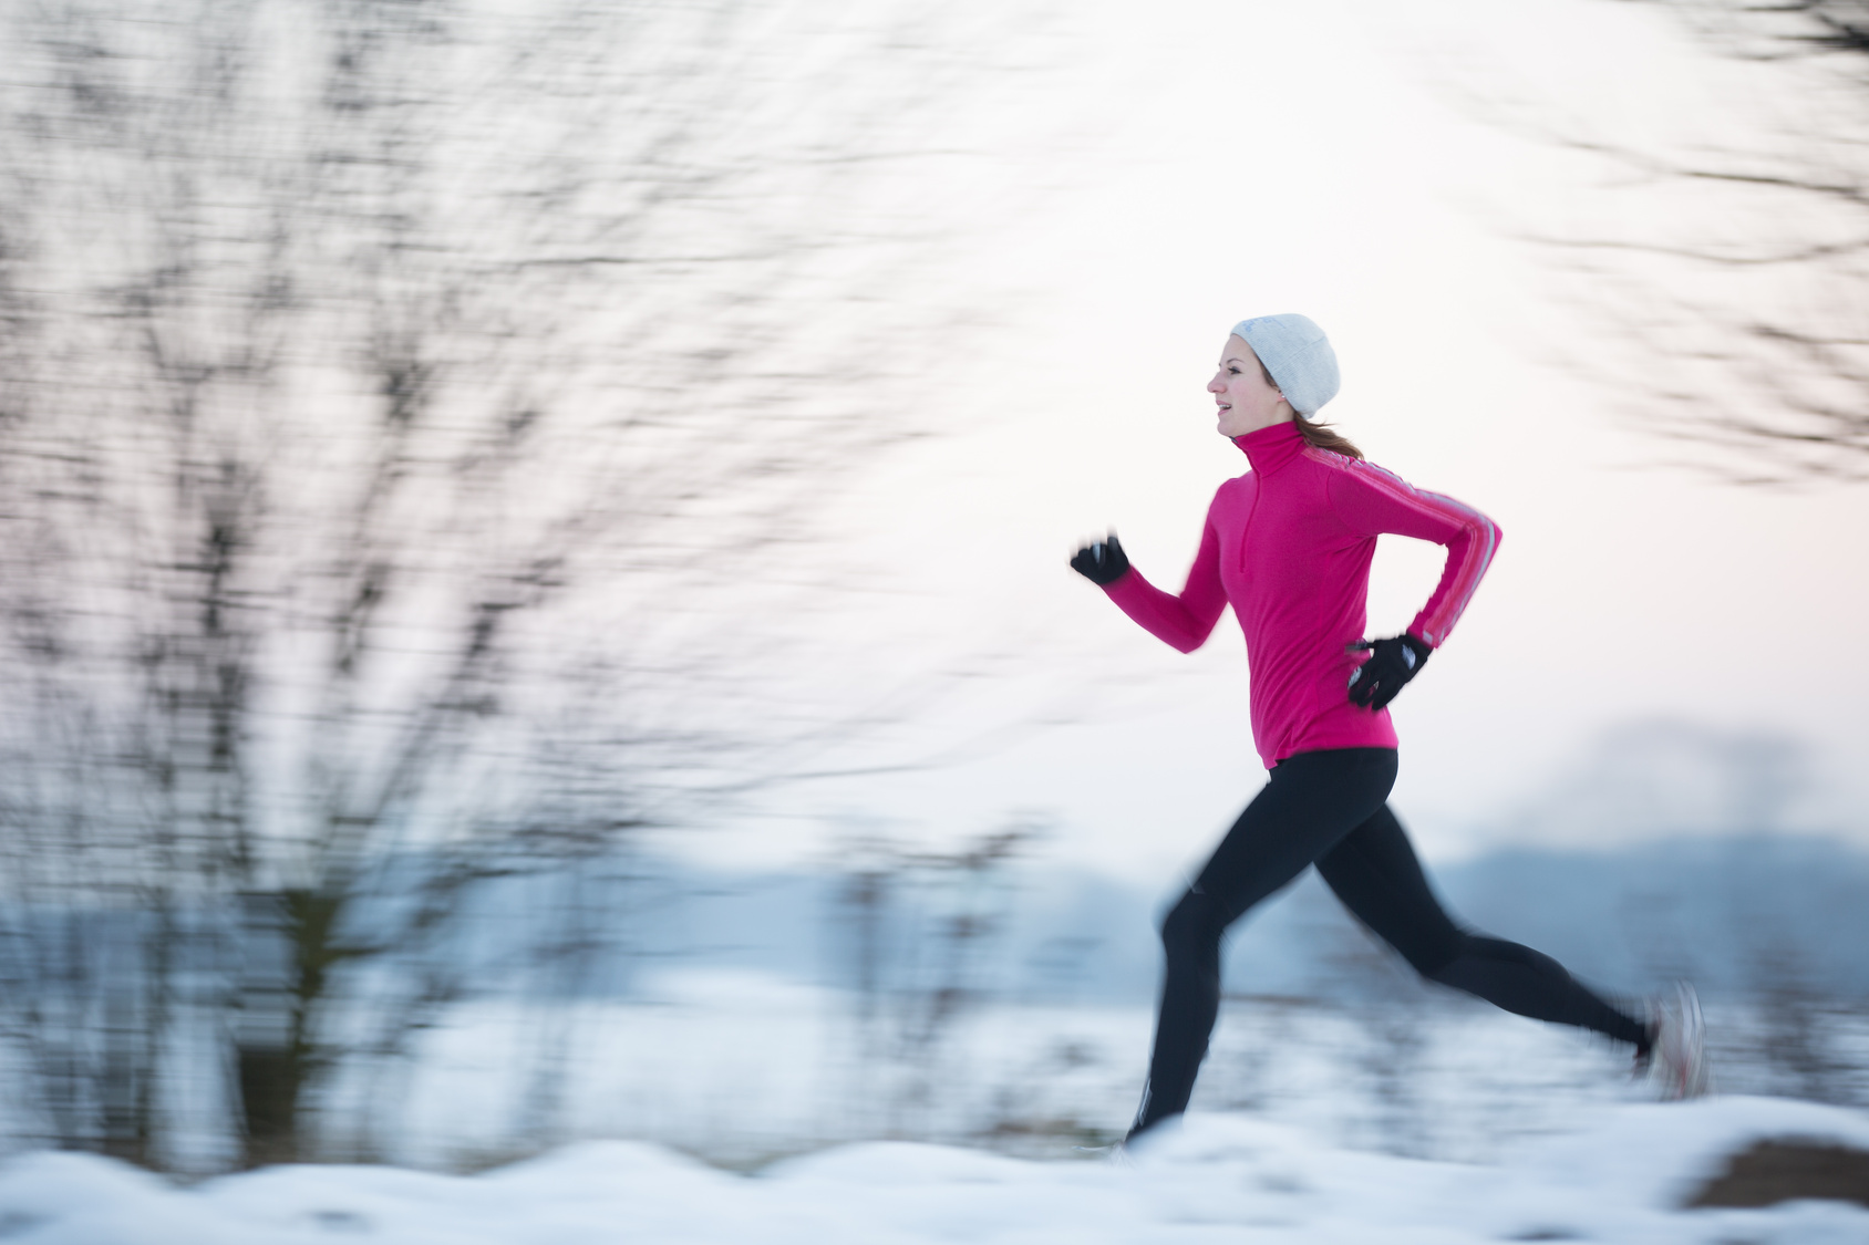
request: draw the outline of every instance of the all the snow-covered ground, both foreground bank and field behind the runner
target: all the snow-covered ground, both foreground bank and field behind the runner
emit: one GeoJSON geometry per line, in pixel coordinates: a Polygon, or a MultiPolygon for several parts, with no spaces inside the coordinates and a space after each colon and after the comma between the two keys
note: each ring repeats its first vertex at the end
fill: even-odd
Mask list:
{"type": "MultiPolygon", "coordinates": [[[[1869,1245],[1869,1209],[1847,1202],[1684,1208],[1755,1138],[1869,1150],[1869,1114],[1766,1095],[1796,1088],[1761,1056],[1783,1034],[1731,1004],[1708,1009],[1729,1095],[1654,1105],[1626,1052],[1437,995],[1235,998],[1196,1112],[1110,1163],[1075,1144],[1134,1109],[1146,1008],[979,1006],[918,1043],[912,1000],[863,1021],[849,996],[770,976],[652,985],[564,1011],[469,1004],[402,1073],[340,1075],[321,1152],[400,1166],[172,1181],[34,1150],[13,1103],[0,1243],[1869,1245]],[[370,1120],[374,1138],[346,1133],[370,1120]]],[[[1822,1054],[1847,1067],[1828,1084],[1862,1103],[1869,1024],[1847,1021],[1822,1054]]],[[[206,1084],[170,1095],[206,1103],[206,1084]]],[[[193,1170],[226,1161],[228,1138],[194,1144],[193,1170]]]]}

